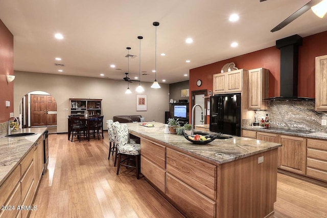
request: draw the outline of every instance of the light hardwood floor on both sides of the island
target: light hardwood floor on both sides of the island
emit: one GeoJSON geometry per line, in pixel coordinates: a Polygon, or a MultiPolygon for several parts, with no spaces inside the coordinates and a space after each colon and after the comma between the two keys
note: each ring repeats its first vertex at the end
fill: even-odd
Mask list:
{"type": "MultiPolygon", "coordinates": [[[[50,135],[49,156],[31,217],[183,217],[134,170],[116,175],[107,137],[50,135]]],[[[278,174],[274,217],[327,217],[327,189],[278,174]]]]}

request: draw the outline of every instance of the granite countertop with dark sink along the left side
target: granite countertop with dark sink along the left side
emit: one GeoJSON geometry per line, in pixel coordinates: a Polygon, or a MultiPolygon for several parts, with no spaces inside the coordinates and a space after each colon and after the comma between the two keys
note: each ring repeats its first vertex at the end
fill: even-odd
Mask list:
{"type": "Polygon", "coordinates": [[[5,135],[0,136],[0,185],[3,184],[46,129],[46,127],[24,128],[12,133],[36,133],[33,136],[12,138],[7,138],[5,135]]]}

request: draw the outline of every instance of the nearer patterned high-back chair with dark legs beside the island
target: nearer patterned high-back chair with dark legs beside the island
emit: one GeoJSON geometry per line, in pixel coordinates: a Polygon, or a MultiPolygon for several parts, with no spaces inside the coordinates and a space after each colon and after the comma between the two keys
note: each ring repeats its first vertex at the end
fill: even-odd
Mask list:
{"type": "Polygon", "coordinates": [[[129,133],[126,124],[116,125],[113,123],[111,126],[115,135],[116,152],[118,154],[118,156],[116,156],[116,158],[118,158],[117,175],[119,175],[120,166],[132,167],[136,169],[136,178],[139,179],[139,171],[141,168],[141,144],[128,142],[129,133]],[[135,166],[129,164],[130,159],[135,160],[135,166]]]}

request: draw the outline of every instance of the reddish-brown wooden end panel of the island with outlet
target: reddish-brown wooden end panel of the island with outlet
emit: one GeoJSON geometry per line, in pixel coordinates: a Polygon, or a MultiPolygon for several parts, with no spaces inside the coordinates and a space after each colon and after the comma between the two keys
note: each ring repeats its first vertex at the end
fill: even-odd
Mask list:
{"type": "Polygon", "coordinates": [[[221,164],[217,217],[267,217],[277,193],[277,149],[221,164]],[[259,163],[259,158],[263,162],[259,163]]]}

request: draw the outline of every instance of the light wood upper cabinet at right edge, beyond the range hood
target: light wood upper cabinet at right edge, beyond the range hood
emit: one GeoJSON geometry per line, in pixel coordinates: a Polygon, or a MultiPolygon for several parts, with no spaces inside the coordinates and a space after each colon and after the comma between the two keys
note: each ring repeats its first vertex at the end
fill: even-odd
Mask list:
{"type": "Polygon", "coordinates": [[[316,111],[327,111],[327,55],[316,57],[316,111]]]}

